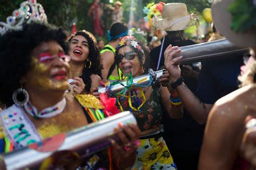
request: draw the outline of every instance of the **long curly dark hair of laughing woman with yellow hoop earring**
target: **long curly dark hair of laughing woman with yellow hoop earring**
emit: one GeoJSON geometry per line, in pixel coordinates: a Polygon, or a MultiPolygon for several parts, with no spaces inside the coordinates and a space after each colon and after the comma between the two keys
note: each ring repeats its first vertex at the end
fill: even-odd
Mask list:
{"type": "MultiPolygon", "coordinates": [[[[85,92],[89,93],[91,89],[91,75],[92,74],[97,74],[100,78],[102,78],[102,62],[100,61],[100,55],[99,55],[99,49],[95,42],[92,40],[92,38],[85,32],[85,31],[78,31],[75,35],[72,35],[68,42],[70,43],[72,38],[75,36],[83,36],[84,38],[87,39],[88,44],[89,44],[89,56],[88,58],[91,61],[91,67],[89,68],[89,64],[85,63],[86,67],[83,69],[82,76],[80,78],[83,79],[85,87],[84,90],[85,92]]],[[[85,61],[86,62],[86,61],[85,61]]]]}

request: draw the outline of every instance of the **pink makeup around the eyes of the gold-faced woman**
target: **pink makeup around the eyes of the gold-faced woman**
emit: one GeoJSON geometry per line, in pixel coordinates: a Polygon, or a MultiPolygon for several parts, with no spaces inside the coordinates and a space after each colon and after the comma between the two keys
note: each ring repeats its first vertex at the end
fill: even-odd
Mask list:
{"type": "Polygon", "coordinates": [[[50,53],[48,53],[48,52],[41,53],[41,54],[39,55],[38,61],[39,61],[40,63],[46,63],[46,62],[51,62],[51,61],[54,60],[55,58],[60,58],[60,59],[62,59],[64,62],[69,62],[69,61],[70,61],[70,56],[65,55],[64,52],[60,52],[60,53],[58,53],[58,55],[50,55],[50,53]]]}

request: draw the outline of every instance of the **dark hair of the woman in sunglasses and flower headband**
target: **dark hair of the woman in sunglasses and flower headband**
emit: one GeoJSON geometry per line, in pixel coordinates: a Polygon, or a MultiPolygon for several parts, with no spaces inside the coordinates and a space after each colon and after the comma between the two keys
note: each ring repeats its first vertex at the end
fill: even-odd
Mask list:
{"type": "MultiPolygon", "coordinates": [[[[126,37],[123,37],[123,38],[126,38],[126,37]]],[[[129,39],[130,39],[130,38],[129,38],[129,39]]],[[[140,51],[140,50],[134,48],[133,46],[129,45],[129,46],[133,49],[133,51],[138,54],[139,62],[140,62],[140,64],[143,66],[144,73],[146,73],[147,70],[149,70],[150,65],[151,65],[151,60],[150,60],[150,57],[149,57],[149,52],[147,52],[147,50],[146,50],[145,45],[144,45],[143,42],[137,40],[136,38],[132,38],[132,39],[130,39],[130,40],[135,40],[135,41],[138,43],[138,45],[140,45],[140,46],[142,47],[142,49],[143,49],[143,51],[144,51],[144,54],[143,54],[142,51],[140,51]],[[142,58],[143,58],[143,56],[145,56],[145,63],[144,63],[144,64],[142,63],[142,58]]],[[[122,40],[121,40],[121,41],[122,41],[122,40]]],[[[119,66],[118,66],[118,63],[117,63],[117,53],[118,53],[120,47],[123,47],[123,46],[127,46],[127,45],[125,44],[125,45],[121,45],[121,46],[120,46],[120,45],[118,44],[118,45],[117,45],[117,48],[116,48],[116,52],[115,52],[115,54],[114,54],[114,63],[117,65],[118,68],[119,68],[119,66]]],[[[119,76],[119,80],[120,80],[120,75],[118,74],[118,76],[119,76]]]]}

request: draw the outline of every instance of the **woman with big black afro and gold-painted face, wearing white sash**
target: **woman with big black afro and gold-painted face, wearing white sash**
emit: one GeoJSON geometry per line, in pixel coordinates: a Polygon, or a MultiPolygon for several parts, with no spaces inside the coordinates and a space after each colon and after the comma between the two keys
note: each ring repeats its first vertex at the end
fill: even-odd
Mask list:
{"type": "MultiPolygon", "coordinates": [[[[7,105],[0,112],[0,153],[93,122],[87,111],[96,110],[91,103],[102,105],[99,99],[89,94],[64,94],[69,87],[70,71],[65,39],[61,29],[39,23],[24,24],[22,29],[10,30],[0,36],[0,102],[7,105]]],[[[89,37],[86,39],[91,40],[89,37]]],[[[93,64],[99,66],[97,62],[93,64]]],[[[120,161],[125,162],[122,167],[129,167],[134,162],[136,149],[132,147],[126,152],[122,146],[136,141],[139,134],[134,124],[120,126],[116,131],[120,142],[113,142],[111,154],[104,149],[86,158],[83,166],[112,169],[111,162],[120,161]],[[93,165],[92,159],[95,160],[93,165]]],[[[77,165],[71,162],[62,162],[62,169],[75,169],[77,165]]]]}

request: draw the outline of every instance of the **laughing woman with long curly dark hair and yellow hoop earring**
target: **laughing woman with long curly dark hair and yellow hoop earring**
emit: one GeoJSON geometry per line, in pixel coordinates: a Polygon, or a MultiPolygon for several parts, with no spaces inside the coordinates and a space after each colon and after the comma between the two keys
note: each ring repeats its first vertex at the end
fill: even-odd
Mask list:
{"type": "Polygon", "coordinates": [[[103,69],[99,50],[85,31],[78,31],[69,39],[70,79],[75,94],[93,93],[102,80],[103,69]]]}

